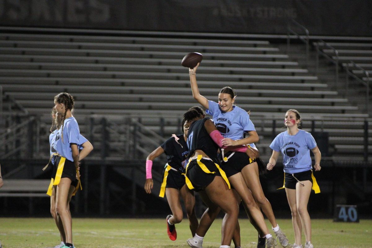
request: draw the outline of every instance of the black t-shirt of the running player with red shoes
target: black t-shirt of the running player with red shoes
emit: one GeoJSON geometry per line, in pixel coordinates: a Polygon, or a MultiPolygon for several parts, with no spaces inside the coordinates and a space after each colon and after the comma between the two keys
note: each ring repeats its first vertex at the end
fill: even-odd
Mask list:
{"type": "Polygon", "coordinates": [[[187,164],[185,163],[185,160],[187,159],[187,155],[189,155],[189,148],[183,138],[183,134],[176,136],[179,138],[178,141],[176,141],[172,136],[160,146],[164,149],[164,153],[167,155],[168,164],[177,171],[184,173],[187,164]]]}

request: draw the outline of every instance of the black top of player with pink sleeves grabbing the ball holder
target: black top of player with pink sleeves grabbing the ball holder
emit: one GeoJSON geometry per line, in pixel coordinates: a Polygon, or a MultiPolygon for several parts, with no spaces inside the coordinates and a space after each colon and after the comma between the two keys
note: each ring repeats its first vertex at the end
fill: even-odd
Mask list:
{"type": "Polygon", "coordinates": [[[193,122],[189,128],[187,136],[187,146],[189,146],[191,156],[195,150],[202,150],[215,163],[219,164],[217,158],[218,145],[212,140],[205,129],[204,123],[210,118],[204,118],[193,122]]]}

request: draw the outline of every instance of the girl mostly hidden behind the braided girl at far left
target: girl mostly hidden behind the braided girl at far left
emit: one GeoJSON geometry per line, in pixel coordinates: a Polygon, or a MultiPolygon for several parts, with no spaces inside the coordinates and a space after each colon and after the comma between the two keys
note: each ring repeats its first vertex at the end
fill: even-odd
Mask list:
{"type": "MultiPolygon", "coordinates": [[[[52,115],[52,126],[50,128],[51,134],[49,135],[51,159],[49,161],[49,164],[52,165],[53,172],[52,172],[51,185],[49,186],[47,194],[51,196],[51,199],[50,199],[51,200],[50,201],[51,214],[57,225],[58,231],[60,231],[60,236],[61,236],[61,243],[56,245],[54,248],[61,248],[64,246],[66,242],[66,236],[65,236],[65,232],[63,229],[61,219],[57,218],[57,213],[56,213],[56,208],[55,208],[56,187],[53,186],[53,182],[55,180],[55,174],[57,173],[57,167],[58,167],[58,163],[56,164],[55,162],[60,161],[60,159],[57,159],[59,155],[57,151],[55,150],[56,148],[55,147],[55,136],[57,135],[58,129],[60,129],[61,127],[62,115],[57,113],[57,110],[55,109],[55,107],[53,107],[51,115],[52,115]],[[54,126],[56,127],[56,129],[52,131],[54,129],[54,126]]],[[[79,154],[79,161],[81,161],[93,150],[93,146],[83,135],[80,135],[79,141],[80,143],[82,143],[79,145],[79,150],[81,150],[79,154]]],[[[80,162],[79,162],[79,168],[80,168],[80,162]]],[[[70,189],[68,190],[67,211],[70,214],[70,216],[71,216],[71,212],[70,212],[71,197],[75,195],[79,185],[80,185],[79,180],[75,178],[75,180],[70,185],[70,189]]]]}

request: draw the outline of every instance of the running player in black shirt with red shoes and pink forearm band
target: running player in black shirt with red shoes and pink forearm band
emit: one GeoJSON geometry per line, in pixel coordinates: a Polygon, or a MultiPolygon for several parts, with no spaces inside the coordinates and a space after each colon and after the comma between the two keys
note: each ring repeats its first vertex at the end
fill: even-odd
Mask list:
{"type": "MultiPolygon", "coordinates": [[[[203,112],[200,107],[199,109],[203,112]]],[[[177,238],[174,224],[180,223],[183,219],[180,196],[185,202],[187,218],[189,219],[192,235],[195,235],[196,228],[198,228],[199,225],[198,218],[196,218],[195,214],[195,196],[193,191],[187,188],[185,183],[186,158],[189,154],[189,149],[186,144],[186,134],[189,127],[190,122],[183,119],[181,124],[183,133],[179,135],[173,134],[172,137],[151,152],[146,159],[146,183],[144,188],[146,193],[151,194],[151,189],[153,189],[154,186],[151,175],[153,160],[163,153],[167,155],[167,164],[164,167],[163,183],[161,184],[159,196],[164,197],[164,193],[166,194],[172,212],[172,214],[168,215],[166,218],[167,233],[172,241],[177,238]]]]}

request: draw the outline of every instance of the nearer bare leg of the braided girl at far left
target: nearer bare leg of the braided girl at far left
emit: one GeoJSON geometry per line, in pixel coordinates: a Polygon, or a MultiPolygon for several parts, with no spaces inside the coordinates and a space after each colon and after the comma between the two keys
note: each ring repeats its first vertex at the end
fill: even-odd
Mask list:
{"type": "Polygon", "coordinates": [[[68,191],[70,189],[71,179],[64,177],[61,178],[57,186],[56,194],[56,209],[57,214],[60,216],[63,229],[66,236],[66,243],[72,244],[72,220],[71,215],[67,210],[68,191]]]}

